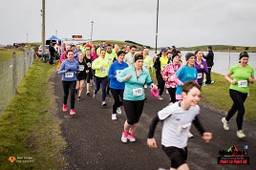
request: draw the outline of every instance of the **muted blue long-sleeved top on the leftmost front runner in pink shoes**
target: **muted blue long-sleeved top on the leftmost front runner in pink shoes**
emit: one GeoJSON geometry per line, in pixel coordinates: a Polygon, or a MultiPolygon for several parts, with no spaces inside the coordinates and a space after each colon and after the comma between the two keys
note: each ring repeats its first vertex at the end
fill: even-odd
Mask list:
{"type": "Polygon", "coordinates": [[[76,74],[75,72],[79,72],[79,64],[77,60],[68,60],[65,59],[58,70],[57,74],[62,74],[62,81],[76,81],[76,74]],[[70,69],[70,71],[67,71],[70,69]]]}

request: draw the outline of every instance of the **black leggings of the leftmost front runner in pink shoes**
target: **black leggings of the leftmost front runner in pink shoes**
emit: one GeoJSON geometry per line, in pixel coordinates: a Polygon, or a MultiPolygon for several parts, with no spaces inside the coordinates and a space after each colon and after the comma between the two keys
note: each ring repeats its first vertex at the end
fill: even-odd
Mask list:
{"type": "Polygon", "coordinates": [[[62,81],[63,91],[64,91],[64,101],[63,104],[67,105],[69,93],[71,91],[71,109],[75,108],[75,86],[76,81],[62,81]]]}

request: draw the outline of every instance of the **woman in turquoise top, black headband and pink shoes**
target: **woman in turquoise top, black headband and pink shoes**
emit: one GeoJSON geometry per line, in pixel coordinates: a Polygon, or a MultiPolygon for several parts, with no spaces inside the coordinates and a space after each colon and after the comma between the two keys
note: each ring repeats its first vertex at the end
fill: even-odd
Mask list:
{"type": "Polygon", "coordinates": [[[139,117],[142,114],[145,93],[143,86],[147,84],[149,87],[157,90],[158,87],[151,80],[150,74],[142,69],[143,55],[137,53],[134,58],[134,66],[124,69],[117,76],[119,82],[125,82],[123,95],[123,106],[127,120],[124,123],[121,141],[130,142],[136,141],[134,133],[138,127],[139,117]]]}

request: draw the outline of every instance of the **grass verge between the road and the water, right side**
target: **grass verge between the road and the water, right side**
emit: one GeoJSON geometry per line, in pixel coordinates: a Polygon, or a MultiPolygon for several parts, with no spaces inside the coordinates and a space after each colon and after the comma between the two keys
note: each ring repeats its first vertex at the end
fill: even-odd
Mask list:
{"type": "MultiPolygon", "coordinates": [[[[153,81],[157,84],[156,75],[151,73],[153,81]]],[[[230,83],[224,75],[212,73],[214,84],[202,87],[202,103],[226,113],[233,104],[229,96],[230,83]]],[[[250,84],[249,96],[245,100],[245,119],[256,121],[254,111],[256,101],[256,84],[250,84]]]]}

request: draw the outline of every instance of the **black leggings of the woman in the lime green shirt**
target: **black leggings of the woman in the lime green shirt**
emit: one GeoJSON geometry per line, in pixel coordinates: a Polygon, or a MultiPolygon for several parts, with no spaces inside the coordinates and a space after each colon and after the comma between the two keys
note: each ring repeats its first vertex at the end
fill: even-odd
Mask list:
{"type": "Polygon", "coordinates": [[[247,94],[229,89],[229,95],[233,100],[233,105],[230,108],[230,110],[227,113],[227,116],[225,117],[226,121],[229,121],[231,117],[235,115],[235,113],[238,111],[237,114],[237,129],[242,130],[243,127],[243,120],[245,115],[245,106],[244,102],[247,97],[247,94]]]}

